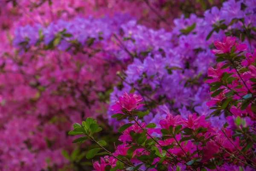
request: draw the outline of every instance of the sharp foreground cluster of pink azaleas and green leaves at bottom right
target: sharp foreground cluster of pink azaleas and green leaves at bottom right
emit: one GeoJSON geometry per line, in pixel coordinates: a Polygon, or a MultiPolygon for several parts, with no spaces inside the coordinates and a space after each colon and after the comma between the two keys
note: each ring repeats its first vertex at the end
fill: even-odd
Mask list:
{"type": "MultiPolygon", "coordinates": [[[[131,98],[139,95],[124,93],[119,97],[126,104],[131,98]],[[128,98],[129,97],[129,98],[128,98]]],[[[140,99],[140,98],[139,98],[140,99]]],[[[255,99],[254,99],[255,101],[255,99]]],[[[140,102],[142,102],[140,100],[140,102]]],[[[119,104],[119,101],[117,102],[119,104]]],[[[82,126],[74,124],[70,135],[84,134],[73,142],[83,142],[90,139],[99,148],[90,150],[86,157],[93,158],[99,151],[102,155],[101,163],[94,162],[95,171],[111,169],[113,171],[253,171],[256,169],[255,145],[256,122],[250,116],[228,116],[228,122],[221,129],[213,126],[205,116],[197,113],[188,114],[186,118],[168,113],[159,119],[157,124],[143,122],[143,116],[148,112],[138,111],[137,104],[120,106],[113,110],[112,118],[117,120],[128,117],[130,122],[122,125],[118,132],[121,145],[116,146],[115,152],[107,151],[105,141],[94,139],[94,133],[99,129],[96,121],[87,118],[82,126]]],[[[224,107],[227,109],[227,107],[224,107]]],[[[254,112],[254,115],[256,112],[254,112]]]]}

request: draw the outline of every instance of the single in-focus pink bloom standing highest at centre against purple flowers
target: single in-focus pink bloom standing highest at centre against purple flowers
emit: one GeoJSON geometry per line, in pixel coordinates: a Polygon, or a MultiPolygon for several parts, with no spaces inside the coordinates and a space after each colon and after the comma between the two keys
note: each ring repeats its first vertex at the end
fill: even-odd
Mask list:
{"type": "Polygon", "coordinates": [[[140,104],[143,98],[140,95],[130,93],[129,95],[125,92],[124,96],[119,96],[119,101],[116,101],[116,104],[112,106],[112,110],[122,110],[125,108],[128,111],[138,109],[144,104],[140,104]]]}

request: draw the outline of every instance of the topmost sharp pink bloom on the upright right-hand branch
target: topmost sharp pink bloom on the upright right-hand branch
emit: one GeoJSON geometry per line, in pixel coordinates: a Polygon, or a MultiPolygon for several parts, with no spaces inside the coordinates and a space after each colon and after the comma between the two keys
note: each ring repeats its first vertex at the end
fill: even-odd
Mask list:
{"type": "Polygon", "coordinates": [[[236,43],[236,38],[232,36],[224,37],[223,42],[221,41],[214,41],[214,46],[217,49],[212,49],[211,52],[213,54],[215,53],[229,53],[232,46],[235,46],[235,52],[236,51],[244,51],[247,48],[247,44],[245,43],[236,43]]]}

